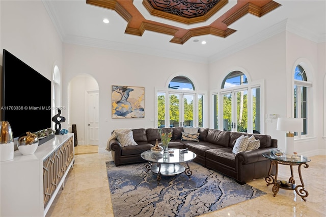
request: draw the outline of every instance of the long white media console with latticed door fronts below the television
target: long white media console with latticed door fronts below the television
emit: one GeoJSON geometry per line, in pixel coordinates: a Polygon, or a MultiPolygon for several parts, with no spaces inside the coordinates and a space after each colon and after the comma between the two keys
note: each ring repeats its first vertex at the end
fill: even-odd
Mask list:
{"type": "Polygon", "coordinates": [[[74,135],[55,135],[31,155],[0,162],[0,216],[45,216],[74,163],[74,135]]]}

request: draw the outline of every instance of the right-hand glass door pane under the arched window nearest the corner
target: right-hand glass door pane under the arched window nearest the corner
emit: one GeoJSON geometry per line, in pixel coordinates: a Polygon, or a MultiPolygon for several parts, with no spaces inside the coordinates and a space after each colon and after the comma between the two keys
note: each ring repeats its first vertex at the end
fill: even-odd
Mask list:
{"type": "Polygon", "coordinates": [[[247,132],[248,128],[248,91],[237,91],[236,96],[236,131],[247,132]]]}

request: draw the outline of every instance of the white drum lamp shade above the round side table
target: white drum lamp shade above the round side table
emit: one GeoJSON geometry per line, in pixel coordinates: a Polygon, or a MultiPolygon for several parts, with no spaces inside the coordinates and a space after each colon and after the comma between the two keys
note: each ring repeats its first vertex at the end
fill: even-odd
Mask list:
{"type": "Polygon", "coordinates": [[[304,120],[302,118],[278,118],[276,130],[287,132],[302,132],[304,120]]]}

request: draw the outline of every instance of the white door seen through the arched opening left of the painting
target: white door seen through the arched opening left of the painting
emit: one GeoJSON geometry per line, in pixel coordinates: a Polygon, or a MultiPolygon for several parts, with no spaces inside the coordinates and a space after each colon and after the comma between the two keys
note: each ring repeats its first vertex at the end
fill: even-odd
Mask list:
{"type": "Polygon", "coordinates": [[[87,145],[98,146],[98,91],[87,91],[87,108],[87,145]]]}

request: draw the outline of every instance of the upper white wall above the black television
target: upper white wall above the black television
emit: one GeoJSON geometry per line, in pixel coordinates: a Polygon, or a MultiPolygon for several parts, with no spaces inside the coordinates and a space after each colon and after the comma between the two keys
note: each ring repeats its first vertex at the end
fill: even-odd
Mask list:
{"type": "Polygon", "coordinates": [[[41,1],[0,1],[1,58],[6,49],[51,80],[56,63],[62,72],[62,42],[41,1]]]}

